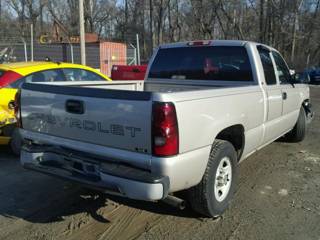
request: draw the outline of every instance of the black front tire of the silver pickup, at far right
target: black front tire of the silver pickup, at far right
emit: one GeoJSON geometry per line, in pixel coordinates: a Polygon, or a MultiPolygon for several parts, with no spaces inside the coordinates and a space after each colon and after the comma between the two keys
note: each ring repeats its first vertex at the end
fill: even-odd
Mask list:
{"type": "Polygon", "coordinates": [[[291,131],[285,134],[285,137],[290,142],[302,141],[306,133],[306,113],[303,106],[300,107],[298,119],[291,131]]]}

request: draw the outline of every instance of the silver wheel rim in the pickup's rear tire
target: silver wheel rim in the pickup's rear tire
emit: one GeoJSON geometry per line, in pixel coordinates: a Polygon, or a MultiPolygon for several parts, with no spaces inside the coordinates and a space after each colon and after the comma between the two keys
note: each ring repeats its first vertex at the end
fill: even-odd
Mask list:
{"type": "Polygon", "coordinates": [[[223,201],[229,192],[232,180],[232,166],[230,158],[223,157],[216,169],[214,179],[214,196],[217,201],[223,201]]]}

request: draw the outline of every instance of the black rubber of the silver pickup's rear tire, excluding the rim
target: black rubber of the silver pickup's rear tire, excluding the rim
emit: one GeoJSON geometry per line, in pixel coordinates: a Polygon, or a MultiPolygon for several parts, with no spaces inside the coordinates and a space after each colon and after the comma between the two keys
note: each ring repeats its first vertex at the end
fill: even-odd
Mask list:
{"type": "Polygon", "coordinates": [[[237,164],[236,152],[233,145],[228,141],[214,140],[201,181],[188,189],[189,202],[195,211],[203,215],[217,217],[229,207],[236,186],[238,175],[237,164]],[[215,176],[220,162],[225,157],[229,159],[232,169],[231,177],[227,176],[227,178],[231,178],[231,182],[229,183],[228,191],[225,193],[225,198],[218,201],[214,193],[216,189],[215,176]]]}

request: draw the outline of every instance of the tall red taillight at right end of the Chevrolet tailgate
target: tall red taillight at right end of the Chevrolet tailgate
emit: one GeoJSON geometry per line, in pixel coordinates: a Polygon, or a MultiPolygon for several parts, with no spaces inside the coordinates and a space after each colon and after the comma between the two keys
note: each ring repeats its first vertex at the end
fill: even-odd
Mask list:
{"type": "Polygon", "coordinates": [[[153,154],[178,154],[178,123],[172,102],[154,102],[152,118],[153,154]]]}

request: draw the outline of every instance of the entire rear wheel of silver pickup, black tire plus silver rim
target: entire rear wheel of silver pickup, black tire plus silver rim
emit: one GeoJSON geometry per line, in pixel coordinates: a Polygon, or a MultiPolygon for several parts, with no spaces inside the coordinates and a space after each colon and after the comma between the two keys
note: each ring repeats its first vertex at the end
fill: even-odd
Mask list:
{"type": "Polygon", "coordinates": [[[207,216],[217,217],[230,205],[238,174],[233,145],[214,140],[201,181],[188,189],[192,208],[207,216]]]}

